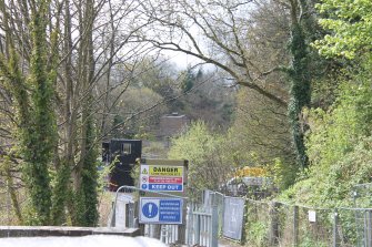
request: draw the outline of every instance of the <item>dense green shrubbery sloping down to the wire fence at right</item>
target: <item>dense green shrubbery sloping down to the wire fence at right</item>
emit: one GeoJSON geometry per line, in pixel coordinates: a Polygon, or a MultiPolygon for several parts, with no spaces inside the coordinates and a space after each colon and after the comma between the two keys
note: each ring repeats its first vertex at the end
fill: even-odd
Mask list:
{"type": "Polygon", "coordinates": [[[310,111],[309,178],[286,191],[284,198],[313,206],[346,206],[353,186],[371,182],[372,89],[368,74],[340,86],[338,101],[328,112],[310,111]]]}

